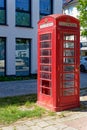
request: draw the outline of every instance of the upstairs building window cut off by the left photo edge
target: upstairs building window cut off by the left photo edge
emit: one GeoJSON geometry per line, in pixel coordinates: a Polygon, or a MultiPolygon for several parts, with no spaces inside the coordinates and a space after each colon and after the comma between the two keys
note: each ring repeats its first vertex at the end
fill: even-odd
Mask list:
{"type": "Polygon", "coordinates": [[[0,0],[0,24],[6,24],[6,0],[0,0]]]}

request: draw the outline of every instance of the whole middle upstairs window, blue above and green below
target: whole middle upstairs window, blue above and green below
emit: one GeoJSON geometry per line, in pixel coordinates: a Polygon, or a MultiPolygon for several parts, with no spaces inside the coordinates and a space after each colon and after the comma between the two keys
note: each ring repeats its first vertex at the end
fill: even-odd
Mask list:
{"type": "Polygon", "coordinates": [[[16,25],[31,26],[31,0],[16,0],[16,25]]]}

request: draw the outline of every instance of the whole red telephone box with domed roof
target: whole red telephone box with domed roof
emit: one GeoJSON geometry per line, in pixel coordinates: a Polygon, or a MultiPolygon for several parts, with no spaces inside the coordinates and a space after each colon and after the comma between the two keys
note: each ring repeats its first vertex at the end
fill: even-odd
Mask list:
{"type": "Polygon", "coordinates": [[[79,100],[80,26],[68,15],[38,22],[38,99],[53,111],[75,108],[79,100]]]}

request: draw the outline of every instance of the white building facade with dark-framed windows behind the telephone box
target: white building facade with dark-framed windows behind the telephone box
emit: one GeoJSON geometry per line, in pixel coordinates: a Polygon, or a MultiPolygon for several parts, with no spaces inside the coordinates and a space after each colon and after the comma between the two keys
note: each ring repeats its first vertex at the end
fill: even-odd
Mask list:
{"type": "Polygon", "coordinates": [[[37,22],[53,13],[61,0],[0,0],[0,76],[37,73],[37,22]]]}

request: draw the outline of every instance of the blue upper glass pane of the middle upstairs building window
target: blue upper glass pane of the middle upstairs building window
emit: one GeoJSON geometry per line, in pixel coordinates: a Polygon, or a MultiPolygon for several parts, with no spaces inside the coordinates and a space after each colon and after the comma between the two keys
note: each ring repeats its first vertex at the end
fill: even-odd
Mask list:
{"type": "Polygon", "coordinates": [[[30,0],[16,0],[16,9],[29,11],[30,0]]]}

